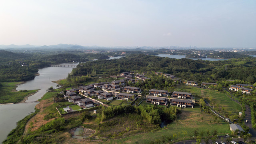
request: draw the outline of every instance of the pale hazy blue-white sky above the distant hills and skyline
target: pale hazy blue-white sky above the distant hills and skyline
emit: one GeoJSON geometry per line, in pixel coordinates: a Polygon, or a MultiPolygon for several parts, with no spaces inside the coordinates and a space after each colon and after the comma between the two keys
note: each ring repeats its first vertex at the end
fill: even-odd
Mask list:
{"type": "Polygon", "coordinates": [[[1,0],[0,44],[256,47],[256,0],[1,0]]]}

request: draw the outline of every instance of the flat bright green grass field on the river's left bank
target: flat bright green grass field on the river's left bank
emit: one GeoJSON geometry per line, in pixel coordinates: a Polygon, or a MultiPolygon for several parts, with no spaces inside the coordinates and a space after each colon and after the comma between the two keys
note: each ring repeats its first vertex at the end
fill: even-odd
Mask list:
{"type": "Polygon", "coordinates": [[[2,82],[0,87],[0,103],[17,103],[22,101],[26,96],[36,93],[37,90],[27,90],[26,92],[15,91],[16,85],[22,82],[2,82]]]}

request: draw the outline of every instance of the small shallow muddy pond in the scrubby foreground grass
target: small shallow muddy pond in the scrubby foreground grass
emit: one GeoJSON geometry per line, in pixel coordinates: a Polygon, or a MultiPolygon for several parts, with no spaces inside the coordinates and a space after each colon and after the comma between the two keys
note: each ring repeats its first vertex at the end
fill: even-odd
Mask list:
{"type": "Polygon", "coordinates": [[[78,128],[72,128],[70,130],[70,134],[72,134],[72,138],[76,138],[76,139],[88,138],[94,133],[95,133],[95,130],[92,130],[89,128],[83,128],[82,126],[78,128]]]}

